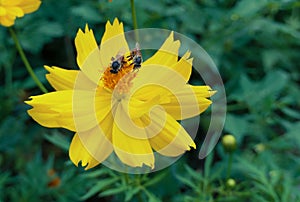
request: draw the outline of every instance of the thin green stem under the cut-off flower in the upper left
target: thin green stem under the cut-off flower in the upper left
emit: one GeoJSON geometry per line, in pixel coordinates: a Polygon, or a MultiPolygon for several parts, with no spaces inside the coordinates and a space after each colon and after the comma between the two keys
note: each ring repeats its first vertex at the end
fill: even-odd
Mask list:
{"type": "Polygon", "coordinates": [[[24,51],[23,51],[23,49],[22,49],[22,47],[21,47],[21,44],[20,44],[20,42],[19,42],[19,40],[18,40],[18,38],[17,38],[17,35],[16,35],[15,31],[14,31],[13,28],[11,28],[11,27],[9,27],[8,30],[9,30],[9,32],[10,32],[10,34],[11,34],[11,36],[12,36],[12,38],[13,38],[15,44],[16,44],[16,48],[17,48],[17,50],[19,51],[19,54],[20,54],[20,56],[21,56],[21,59],[22,59],[24,65],[25,65],[25,67],[26,67],[28,73],[30,74],[31,78],[34,80],[34,82],[36,83],[36,85],[40,88],[40,90],[41,90],[43,93],[47,93],[47,92],[48,92],[47,89],[44,87],[44,85],[43,85],[43,84],[40,82],[40,80],[37,78],[37,76],[35,75],[35,73],[34,73],[32,67],[30,66],[30,64],[29,64],[29,62],[28,62],[28,60],[27,60],[27,58],[26,58],[26,56],[25,56],[25,53],[24,53],[24,51]]]}

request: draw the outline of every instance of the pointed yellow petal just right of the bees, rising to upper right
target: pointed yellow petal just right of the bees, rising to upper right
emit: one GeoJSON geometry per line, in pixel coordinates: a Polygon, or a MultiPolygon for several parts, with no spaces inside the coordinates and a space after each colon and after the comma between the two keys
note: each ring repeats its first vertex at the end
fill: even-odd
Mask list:
{"type": "Polygon", "coordinates": [[[170,36],[166,39],[160,49],[151,58],[146,60],[143,65],[158,64],[171,67],[178,60],[179,47],[180,42],[174,41],[174,33],[171,32],[170,36]]]}

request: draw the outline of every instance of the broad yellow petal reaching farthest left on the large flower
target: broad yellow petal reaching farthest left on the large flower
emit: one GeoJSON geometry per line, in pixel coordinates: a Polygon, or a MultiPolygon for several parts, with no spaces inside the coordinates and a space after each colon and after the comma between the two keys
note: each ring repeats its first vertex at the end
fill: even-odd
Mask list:
{"type": "Polygon", "coordinates": [[[65,90],[31,96],[25,103],[33,108],[28,114],[50,128],[87,131],[98,125],[111,109],[111,97],[105,90],[65,90]]]}

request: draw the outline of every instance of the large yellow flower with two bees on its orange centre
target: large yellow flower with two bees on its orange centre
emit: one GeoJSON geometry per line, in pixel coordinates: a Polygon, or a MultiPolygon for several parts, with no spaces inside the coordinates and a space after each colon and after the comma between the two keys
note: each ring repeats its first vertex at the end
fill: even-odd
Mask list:
{"type": "Polygon", "coordinates": [[[173,33],[159,51],[134,69],[132,50],[123,24],[107,22],[100,47],[86,26],[75,38],[80,70],[45,68],[56,92],[32,96],[29,115],[45,127],[76,132],[69,149],[75,165],[85,169],[113,152],[131,167],[154,168],[154,151],[175,157],[195,148],[176,121],[203,112],[214,92],[208,86],[187,84],[192,71],[190,52],[178,60],[179,41],[173,33]],[[112,73],[113,58],[123,56],[122,67],[112,73]]]}

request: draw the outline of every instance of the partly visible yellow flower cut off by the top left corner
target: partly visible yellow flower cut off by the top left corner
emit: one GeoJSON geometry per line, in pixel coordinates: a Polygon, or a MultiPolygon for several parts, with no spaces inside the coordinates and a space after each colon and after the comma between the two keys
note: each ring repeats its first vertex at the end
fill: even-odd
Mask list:
{"type": "Polygon", "coordinates": [[[0,0],[0,24],[12,26],[16,17],[36,11],[40,4],[40,0],[0,0]]]}

